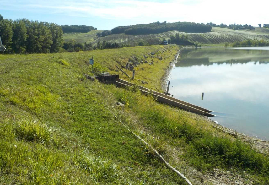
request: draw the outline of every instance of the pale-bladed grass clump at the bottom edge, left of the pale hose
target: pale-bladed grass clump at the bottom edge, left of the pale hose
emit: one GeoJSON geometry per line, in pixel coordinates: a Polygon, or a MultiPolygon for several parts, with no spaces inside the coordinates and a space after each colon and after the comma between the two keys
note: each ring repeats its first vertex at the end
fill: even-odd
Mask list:
{"type": "Polygon", "coordinates": [[[78,165],[88,171],[96,182],[117,180],[118,172],[111,161],[83,154],[78,159],[78,165]]]}

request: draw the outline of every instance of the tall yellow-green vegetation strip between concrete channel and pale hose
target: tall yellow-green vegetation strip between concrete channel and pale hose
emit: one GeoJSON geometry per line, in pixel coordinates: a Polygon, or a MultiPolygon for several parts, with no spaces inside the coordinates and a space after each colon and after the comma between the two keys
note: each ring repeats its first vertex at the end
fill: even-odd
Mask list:
{"type": "MultiPolygon", "coordinates": [[[[230,137],[203,125],[199,120],[188,119],[182,111],[156,103],[152,97],[128,95],[127,91],[122,93],[129,97],[130,108],[138,114],[145,126],[153,129],[154,133],[167,134],[190,146],[185,157],[189,158],[197,169],[203,171],[214,166],[227,166],[254,174],[269,175],[269,158],[257,153],[249,144],[240,140],[233,141],[230,137]]],[[[157,139],[149,141],[152,141],[157,149],[163,148],[157,139]]]]}

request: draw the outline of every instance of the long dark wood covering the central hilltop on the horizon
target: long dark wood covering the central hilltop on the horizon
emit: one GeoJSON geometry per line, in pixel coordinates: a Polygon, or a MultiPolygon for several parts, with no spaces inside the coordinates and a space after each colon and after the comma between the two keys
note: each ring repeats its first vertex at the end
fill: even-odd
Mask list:
{"type": "Polygon", "coordinates": [[[167,23],[166,21],[149,24],[137,24],[133,26],[118,26],[111,30],[111,34],[125,33],[128,35],[157,34],[166,31],[183,31],[189,33],[210,32],[211,26],[191,22],[167,23]]]}

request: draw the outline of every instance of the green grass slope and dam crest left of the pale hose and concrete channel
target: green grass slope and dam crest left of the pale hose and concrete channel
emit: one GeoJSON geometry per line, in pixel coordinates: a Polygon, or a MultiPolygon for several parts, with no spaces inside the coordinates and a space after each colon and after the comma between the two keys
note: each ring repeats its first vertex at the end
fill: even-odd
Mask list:
{"type": "Polygon", "coordinates": [[[105,108],[121,92],[83,76],[91,55],[112,68],[159,49],[177,51],[0,55],[0,184],[181,184],[105,108]]]}

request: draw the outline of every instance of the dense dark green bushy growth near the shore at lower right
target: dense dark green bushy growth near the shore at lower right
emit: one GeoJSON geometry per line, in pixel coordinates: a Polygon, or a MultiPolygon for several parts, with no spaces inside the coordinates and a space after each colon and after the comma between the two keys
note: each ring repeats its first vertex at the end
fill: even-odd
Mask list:
{"type": "MultiPolygon", "coordinates": [[[[193,164],[200,170],[206,167],[201,161],[213,166],[239,167],[252,173],[268,175],[269,159],[253,150],[249,144],[210,133],[191,143],[188,153],[193,164]]],[[[208,167],[208,166],[207,166],[208,167]]]]}

